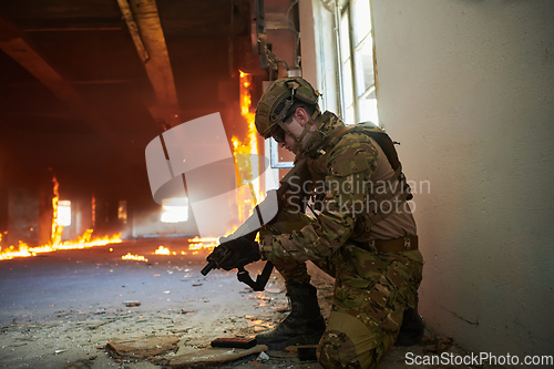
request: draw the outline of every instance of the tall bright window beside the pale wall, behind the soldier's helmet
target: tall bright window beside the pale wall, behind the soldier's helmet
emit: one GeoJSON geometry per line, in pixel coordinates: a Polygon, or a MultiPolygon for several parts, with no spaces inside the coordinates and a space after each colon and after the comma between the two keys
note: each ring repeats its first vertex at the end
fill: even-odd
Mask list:
{"type": "Polygon", "coordinates": [[[342,7],[339,61],[346,124],[366,121],[379,124],[371,23],[370,0],[349,1],[342,7]]]}

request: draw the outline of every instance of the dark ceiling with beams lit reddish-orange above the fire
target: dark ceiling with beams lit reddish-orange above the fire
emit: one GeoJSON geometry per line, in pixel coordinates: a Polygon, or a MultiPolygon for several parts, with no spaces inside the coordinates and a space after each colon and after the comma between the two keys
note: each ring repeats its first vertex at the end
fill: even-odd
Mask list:
{"type": "Polygon", "coordinates": [[[53,173],[62,194],[152,202],[151,140],[240,116],[252,19],[249,0],[0,0],[0,187],[53,173]]]}

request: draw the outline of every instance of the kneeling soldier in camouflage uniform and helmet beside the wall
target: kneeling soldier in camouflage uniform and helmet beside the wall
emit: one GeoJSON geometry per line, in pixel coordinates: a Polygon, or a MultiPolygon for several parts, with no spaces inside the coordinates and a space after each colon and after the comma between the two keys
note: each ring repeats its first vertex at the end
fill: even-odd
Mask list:
{"type": "MultiPolygon", "coordinates": [[[[373,368],[396,341],[414,345],[423,334],[417,312],[423,258],[407,203],[411,194],[388,135],[371,124],[346,126],[320,113],[317,101],[306,80],[286,78],[257,106],[259,134],[297,161],[308,158],[311,180],[287,198],[309,187],[316,217],[288,202],[259,233],[260,256],[285,278],[291,311],[256,338],[269,349],[319,342],[325,368],[373,368]],[[327,327],[307,260],[336,280],[327,327]]],[[[257,259],[257,244],[244,240],[237,249],[257,259]]]]}

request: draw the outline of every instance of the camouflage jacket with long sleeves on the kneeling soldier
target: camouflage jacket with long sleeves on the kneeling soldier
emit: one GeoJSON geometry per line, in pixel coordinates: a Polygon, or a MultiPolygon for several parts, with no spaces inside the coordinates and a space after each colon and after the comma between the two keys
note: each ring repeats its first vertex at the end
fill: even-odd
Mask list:
{"type": "MultiPolygon", "coordinates": [[[[316,262],[329,257],[349,239],[359,236],[357,223],[360,214],[352,205],[367,202],[368,192],[363,184],[370,183],[378,166],[378,156],[384,154],[382,151],[379,154],[379,146],[368,135],[358,132],[342,135],[338,143],[326,152],[324,139],[345,124],[330,112],[325,112],[320,120],[318,132],[305,150],[305,155],[310,158],[310,187],[316,188],[314,205],[320,213],[316,218],[300,216],[305,219],[300,229],[297,222],[291,227],[296,227],[296,230],[287,232],[286,225],[277,224],[270,227],[273,232],[261,232],[261,257],[265,259],[293,256],[298,262],[316,262]],[[317,191],[324,187],[325,192],[317,191]]],[[[294,213],[294,206],[288,212],[294,213]]],[[[293,222],[293,218],[295,216],[289,214],[283,222],[293,222]]]]}

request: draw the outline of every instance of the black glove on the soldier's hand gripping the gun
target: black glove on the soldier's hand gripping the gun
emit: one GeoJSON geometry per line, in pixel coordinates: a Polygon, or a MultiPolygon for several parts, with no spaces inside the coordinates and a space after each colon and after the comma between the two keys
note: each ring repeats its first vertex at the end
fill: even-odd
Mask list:
{"type": "Polygon", "coordinates": [[[235,238],[217,246],[206,259],[215,268],[230,270],[259,260],[259,245],[245,237],[235,238]]]}

